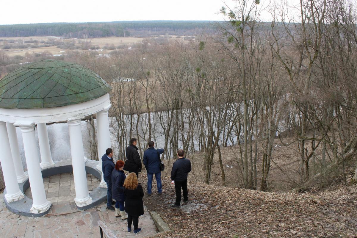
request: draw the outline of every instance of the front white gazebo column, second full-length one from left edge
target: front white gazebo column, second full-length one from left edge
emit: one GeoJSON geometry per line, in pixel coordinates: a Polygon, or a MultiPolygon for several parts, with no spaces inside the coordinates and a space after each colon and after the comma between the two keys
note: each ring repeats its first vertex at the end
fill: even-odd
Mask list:
{"type": "Polygon", "coordinates": [[[46,212],[51,207],[51,202],[47,201],[44,181],[42,179],[39,155],[35,140],[35,124],[18,125],[22,132],[24,141],[24,151],[26,157],[27,172],[29,173],[31,195],[33,204],[31,213],[46,212]]]}

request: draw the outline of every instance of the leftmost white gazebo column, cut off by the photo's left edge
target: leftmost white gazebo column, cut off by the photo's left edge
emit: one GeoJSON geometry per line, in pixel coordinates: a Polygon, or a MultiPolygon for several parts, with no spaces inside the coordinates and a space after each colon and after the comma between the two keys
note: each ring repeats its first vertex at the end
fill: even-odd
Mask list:
{"type": "MultiPolygon", "coordinates": [[[[17,183],[14,162],[10,151],[9,137],[7,136],[6,123],[0,122],[0,162],[2,174],[4,175],[4,182],[6,187],[5,199],[8,203],[19,201],[24,198],[24,194],[17,183]]],[[[21,164],[22,166],[22,164],[21,164]]]]}

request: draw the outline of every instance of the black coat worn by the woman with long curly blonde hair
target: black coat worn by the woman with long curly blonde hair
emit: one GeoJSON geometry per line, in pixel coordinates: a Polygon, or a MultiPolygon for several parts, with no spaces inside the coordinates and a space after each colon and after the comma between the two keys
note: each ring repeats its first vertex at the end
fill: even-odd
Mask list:
{"type": "Polygon", "coordinates": [[[131,216],[141,216],[144,214],[144,204],[142,203],[142,197],[144,197],[144,191],[140,184],[134,190],[124,188],[125,194],[125,212],[131,216]]]}

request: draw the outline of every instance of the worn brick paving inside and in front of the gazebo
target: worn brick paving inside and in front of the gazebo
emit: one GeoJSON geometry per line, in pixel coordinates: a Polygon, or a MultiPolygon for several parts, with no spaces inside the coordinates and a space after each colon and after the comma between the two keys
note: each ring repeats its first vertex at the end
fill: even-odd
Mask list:
{"type": "MultiPolygon", "coordinates": [[[[98,179],[87,175],[88,187],[98,186],[98,179]]],[[[71,174],[61,174],[44,178],[47,184],[46,193],[55,196],[50,201],[54,202],[49,214],[45,217],[25,217],[14,214],[7,210],[4,204],[4,194],[0,194],[0,237],[6,238],[98,238],[99,227],[97,222],[101,220],[108,226],[117,237],[150,237],[156,233],[154,221],[152,221],[146,207],[145,213],[139,217],[139,227],[142,231],[134,235],[127,232],[127,221],[121,221],[114,216],[115,212],[106,209],[102,203],[97,207],[86,211],[78,210],[71,194],[74,191],[71,174]],[[67,187],[68,186],[68,187],[67,187]],[[72,187],[73,186],[73,187],[72,187]],[[51,189],[53,188],[53,189],[51,189]],[[64,190],[62,190],[62,189],[64,190]],[[65,189],[66,188],[66,189],[65,189]],[[73,188],[73,189],[71,189],[73,188]],[[69,190],[68,190],[69,189],[69,190]],[[53,190],[53,191],[52,191],[53,190]],[[69,195],[61,192],[69,191],[69,195]],[[58,195],[56,195],[58,193],[58,195]]],[[[92,190],[92,189],[89,189],[92,190]]],[[[27,191],[26,191],[27,192],[27,191]]],[[[73,193],[74,194],[74,193],[73,193]]]]}

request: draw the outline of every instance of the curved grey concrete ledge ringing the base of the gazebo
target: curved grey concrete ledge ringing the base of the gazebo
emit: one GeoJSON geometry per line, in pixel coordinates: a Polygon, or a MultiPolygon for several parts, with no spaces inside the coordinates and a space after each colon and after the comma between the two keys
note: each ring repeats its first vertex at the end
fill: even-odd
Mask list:
{"type": "MultiPolygon", "coordinates": [[[[97,177],[99,180],[101,180],[101,172],[96,169],[96,166],[98,164],[98,161],[94,161],[91,159],[88,159],[85,163],[85,169],[86,169],[86,173],[92,174],[95,177],[97,177]]],[[[56,175],[56,174],[61,174],[61,173],[71,173],[73,172],[73,168],[72,168],[72,160],[71,159],[66,159],[66,160],[62,160],[62,161],[55,161],[55,167],[51,167],[51,168],[47,168],[47,169],[42,169],[42,177],[49,177],[52,175],[56,175]]],[[[27,174],[27,171],[25,172],[25,174],[27,174]]],[[[24,193],[25,195],[25,191],[27,188],[30,187],[30,182],[29,179],[27,178],[23,183],[19,183],[19,187],[22,193],[24,193]]],[[[6,194],[6,189],[4,190],[4,195],[6,194]]],[[[107,197],[107,189],[106,188],[101,188],[101,187],[96,187],[93,189],[93,191],[91,191],[89,193],[89,196],[92,198],[92,203],[88,204],[87,206],[84,207],[77,207],[77,209],[79,210],[86,210],[89,209],[91,207],[95,207],[98,204],[106,201],[106,197],[107,197]]],[[[22,215],[22,216],[27,216],[27,217],[41,217],[46,215],[47,213],[50,212],[50,209],[52,208],[52,204],[50,206],[50,208],[43,212],[43,213],[31,213],[30,209],[32,207],[32,199],[26,197],[25,198],[16,201],[16,202],[11,202],[11,203],[7,203],[6,199],[4,199],[5,201],[5,205],[7,207],[7,209],[9,209],[9,211],[22,215]]],[[[70,204],[68,204],[69,208],[70,208],[70,204]]],[[[64,208],[63,208],[64,209],[64,208]]],[[[66,209],[64,209],[66,210],[66,209]]],[[[67,209],[68,210],[68,209],[67,209]]]]}

